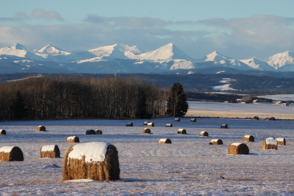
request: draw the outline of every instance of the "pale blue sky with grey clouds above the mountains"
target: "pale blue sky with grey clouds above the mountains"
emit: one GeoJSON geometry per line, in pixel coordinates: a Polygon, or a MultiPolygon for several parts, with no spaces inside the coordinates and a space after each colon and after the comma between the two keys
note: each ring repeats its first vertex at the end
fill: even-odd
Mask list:
{"type": "Polygon", "coordinates": [[[294,52],[294,1],[2,0],[0,48],[52,44],[66,51],[123,43],[155,50],[168,43],[202,58],[294,52]]]}

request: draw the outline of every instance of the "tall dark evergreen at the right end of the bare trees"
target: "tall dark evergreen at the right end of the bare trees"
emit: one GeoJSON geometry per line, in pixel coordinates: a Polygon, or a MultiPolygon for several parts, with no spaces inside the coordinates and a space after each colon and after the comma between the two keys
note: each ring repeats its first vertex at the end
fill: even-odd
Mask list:
{"type": "Polygon", "coordinates": [[[186,93],[180,83],[174,83],[167,100],[166,114],[170,116],[184,116],[188,111],[186,93]]]}

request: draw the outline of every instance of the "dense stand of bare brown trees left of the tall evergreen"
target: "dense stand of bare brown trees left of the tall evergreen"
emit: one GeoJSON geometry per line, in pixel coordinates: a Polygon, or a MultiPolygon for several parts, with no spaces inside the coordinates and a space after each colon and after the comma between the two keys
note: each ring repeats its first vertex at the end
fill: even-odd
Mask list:
{"type": "Polygon", "coordinates": [[[169,94],[154,83],[131,77],[31,77],[0,83],[0,119],[165,116],[171,115],[166,113],[169,94]]]}

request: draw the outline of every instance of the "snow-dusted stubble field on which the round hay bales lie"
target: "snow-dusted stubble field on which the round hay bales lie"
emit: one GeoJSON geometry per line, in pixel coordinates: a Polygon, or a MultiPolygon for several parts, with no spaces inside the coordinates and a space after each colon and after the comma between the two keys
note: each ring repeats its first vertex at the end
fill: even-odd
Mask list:
{"type": "MultiPolygon", "coordinates": [[[[213,104],[190,105],[195,109],[197,106],[203,110],[216,109],[213,104]]],[[[247,112],[248,108],[238,109],[247,112]]],[[[0,195],[294,194],[294,121],[291,120],[197,118],[193,123],[190,118],[181,118],[180,122],[174,122],[174,118],[64,119],[1,122],[0,129],[6,130],[6,135],[0,135],[0,147],[18,146],[24,154],[23,162],[0,162],[0,195]],[[142,134],[144,121],[154,123],[151,134],[142,134]],[[128,122],[133,127],[126,127],[128,122]],[[167,123],[173,127],[166,128],[167,123]],[[220,129],[221,124],[227,124],[228,129],[220,129]],[[39,125],[45,126],[46,132],[36,131],[39,125]],[[186,129],[187,135],[177,134],[179,128],[186,129]],[[88,129],[100,129],[103,134],[85,135],[88,129]],[[201,131],[209,136],[199,136],[201,131]],[[81,143],[103,141],[116,146],[121,180],[62,182],[64,152],[73,145],[65,141],[74,135],[81,143]],[[249,155],[228,155],[229,145],[242,142],[244,135],[255,138],[255,142],[246,143],[249,155]],[[268,137],[283,137],[286,145],[279,145],[278,150],[262,150],[262,142],[268,137]],[[172,144],[159,144],[161,138],[171,139],[172,144]],[[211,139],[221,139],[223,145],[209,145],[211,139]],[[40,148],[52,144],[58,145],[61,158],[40,158],[40,148]]]]}

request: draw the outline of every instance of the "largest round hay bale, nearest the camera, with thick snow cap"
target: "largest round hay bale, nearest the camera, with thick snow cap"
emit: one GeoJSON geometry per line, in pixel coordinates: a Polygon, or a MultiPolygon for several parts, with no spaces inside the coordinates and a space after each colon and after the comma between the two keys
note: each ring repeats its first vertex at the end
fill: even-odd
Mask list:
{"type": "Polygon", "coordinates": [[[64,155],[62,181],[76,179],[119,180],[116,147],[106,142],[80,143],[64,155]]]}

